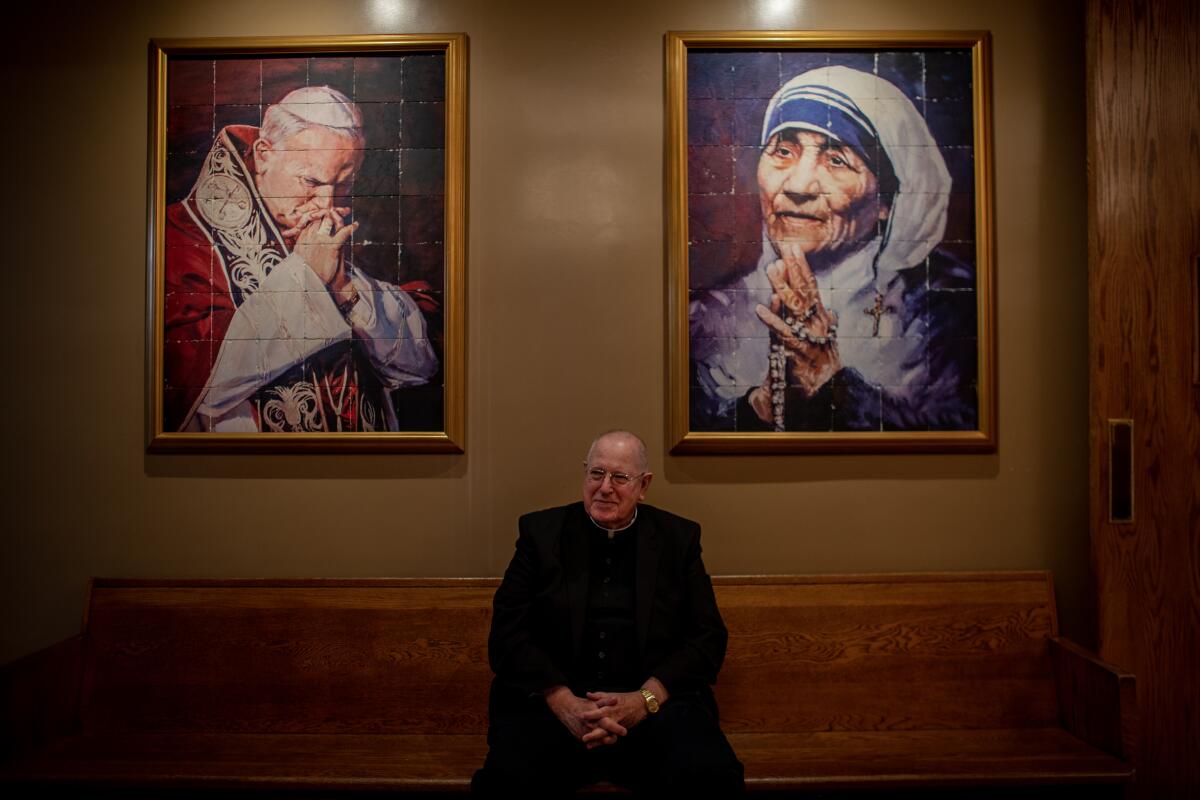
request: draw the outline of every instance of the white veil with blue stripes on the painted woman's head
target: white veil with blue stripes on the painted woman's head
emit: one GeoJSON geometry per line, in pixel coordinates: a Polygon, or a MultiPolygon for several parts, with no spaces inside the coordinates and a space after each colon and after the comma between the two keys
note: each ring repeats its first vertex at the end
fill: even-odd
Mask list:
{"type": "Polygon", "coordinates": [[[770,98],[762,145],[785,130],[812,131],[845,144],[881,179],[881,191],[893,188],[884,185],[888,173],[895,176],[876,275],[913,266],[941,242],[950,174],[924,118],[893,83],[850,67],[810,70],[770,98]]]}

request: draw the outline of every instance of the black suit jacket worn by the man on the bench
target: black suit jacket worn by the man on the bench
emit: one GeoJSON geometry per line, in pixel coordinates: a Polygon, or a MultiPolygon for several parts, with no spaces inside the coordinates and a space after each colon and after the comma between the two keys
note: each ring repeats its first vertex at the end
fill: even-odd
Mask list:
{"type": "MultiPolygon", "coordinates": [[[[638,506],[635,622],[642,680],[658,678],[671,694],[709,685],[728,638],[700,553],[700,525],[638,506]]],[[[582,503],[521,517],[516,553],[493,601],[487,638],[496,694],[528,697],[558,684],[580,658],[588,596],[582,503]]]]}

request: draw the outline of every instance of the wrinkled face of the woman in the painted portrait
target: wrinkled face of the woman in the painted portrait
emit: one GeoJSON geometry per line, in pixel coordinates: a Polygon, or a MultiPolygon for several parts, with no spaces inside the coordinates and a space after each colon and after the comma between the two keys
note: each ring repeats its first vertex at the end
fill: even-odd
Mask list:
{"type": "Polygon", "coordinates": [[[770,138],[758,158],[758,191],[775,251],[799,242],[814,267],[862,247],[888,216],[866,162],[810,131],[788,128],[770,138]]]}

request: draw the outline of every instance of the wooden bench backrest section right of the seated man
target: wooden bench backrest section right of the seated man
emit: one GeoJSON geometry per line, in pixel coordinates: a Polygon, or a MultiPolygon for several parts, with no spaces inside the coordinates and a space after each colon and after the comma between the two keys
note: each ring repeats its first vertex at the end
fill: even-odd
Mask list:
{"type": "Polygon", "coordinates": [[[727,732],[1057,724],[1046,572],[726,578],[727,732]]]}

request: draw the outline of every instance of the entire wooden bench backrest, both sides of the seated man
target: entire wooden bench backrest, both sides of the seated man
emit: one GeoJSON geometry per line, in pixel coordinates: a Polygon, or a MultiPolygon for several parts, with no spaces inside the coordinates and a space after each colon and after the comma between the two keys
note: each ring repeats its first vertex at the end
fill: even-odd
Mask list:
{"type": "MultiPolygon", "coordinates": [[[[730,732],[1054,724],[1048,573],[716,578],[730,732]]],[[[484,733],[494,578],[96,581],[102,732],[484,733]]]]}

